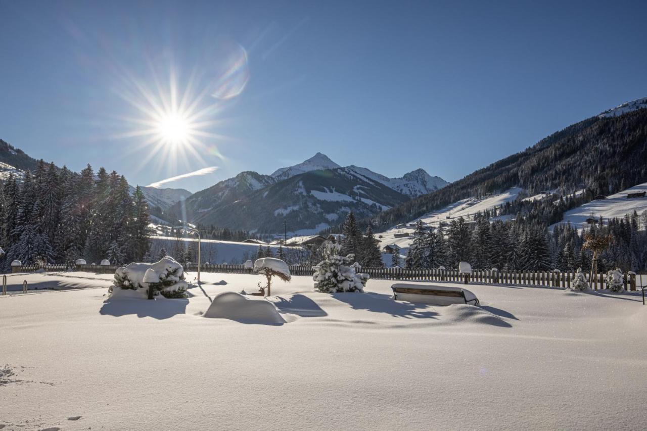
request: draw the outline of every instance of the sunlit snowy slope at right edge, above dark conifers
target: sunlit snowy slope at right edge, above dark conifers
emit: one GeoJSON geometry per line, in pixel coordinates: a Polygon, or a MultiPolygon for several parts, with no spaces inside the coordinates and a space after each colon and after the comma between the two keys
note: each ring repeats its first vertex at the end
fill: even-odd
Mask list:
{"type": "Polygon", "coordinates": [[[573,208],[564,213],[562,221],[551,225],[549,230],[558,224],[571,223],[573,227],[581,230],[588,226],[586,219],[591,217],[599,219],[600,216],[604,219],[611,219],[614,217],[624,217],[625,214],[632,214],[634,211],[638,214],[642,214],[647,210],[647,197],[638,197],[628,199],[626,197],[628,192],[647,192],[647,182],[638,184],[623,190],[622,192],[615,193],[615,195],[610,195],[606,199],[598,199],[597,201],[591,201],[577,208],[573,208]]]}

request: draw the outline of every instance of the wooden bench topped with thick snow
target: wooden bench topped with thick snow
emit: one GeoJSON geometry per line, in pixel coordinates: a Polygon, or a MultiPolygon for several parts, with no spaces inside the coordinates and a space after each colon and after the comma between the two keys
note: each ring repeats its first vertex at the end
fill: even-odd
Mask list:
{"type": "Polygon", "coordinates": [[[460,287],[395,283],[391,286],[391,290],[393,299],[396,301],[422,302],[432,305],[479,305],[479,300],[474,293],[460,287]]]}

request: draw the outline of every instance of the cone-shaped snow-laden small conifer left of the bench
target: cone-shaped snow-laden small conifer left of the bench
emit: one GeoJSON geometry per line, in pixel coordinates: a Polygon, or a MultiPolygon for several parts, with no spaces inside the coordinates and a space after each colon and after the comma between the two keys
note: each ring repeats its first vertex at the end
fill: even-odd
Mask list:
{"type": "Polygon", "coordinates": [[[340,256],[342,245],[323,245],[323,260],[314,267],[314,289],[324,293],[364,292],[368,274],[357,273],[351,263],[353,254],[340,256]]]}

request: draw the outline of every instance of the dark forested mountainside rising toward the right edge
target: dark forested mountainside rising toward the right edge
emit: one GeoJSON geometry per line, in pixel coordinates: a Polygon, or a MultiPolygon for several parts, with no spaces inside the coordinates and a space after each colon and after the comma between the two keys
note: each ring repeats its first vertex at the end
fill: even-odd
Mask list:
{"type": "MultiPolygon", "coordinates": [[[[598,195],[606,196],[647,182],[644,162],[647,160],[647,109],[642,109],[638,101],[609,109],[606,111],[609,115],[593,116],[566,127],[440,190],[381,212],[371,217],[371,223],[386,230],[463,199],[481,198],[515,187],[522,188],[527,195],[553,190],[567,196],[584,189],[577,199],[567,199],[564,203],[516,200],[507,203],[499,213],[521,215],[534,223],[552,225],[562,220],[565,211],[598,195]]],[[[362,221],[367,222],[367,219],[362,221]]]]}

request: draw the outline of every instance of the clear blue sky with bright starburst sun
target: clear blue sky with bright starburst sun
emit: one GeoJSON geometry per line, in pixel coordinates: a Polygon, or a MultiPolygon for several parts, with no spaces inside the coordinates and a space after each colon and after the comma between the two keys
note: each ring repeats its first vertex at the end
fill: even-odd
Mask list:
{"type": "Polygon", "coordinates": [[[0,138],[131,184],[217,167],[165,184],[193,192],[317,151],[454,181],[647,96],[645,1],[0,0],[0,17],[0,138]]]}

